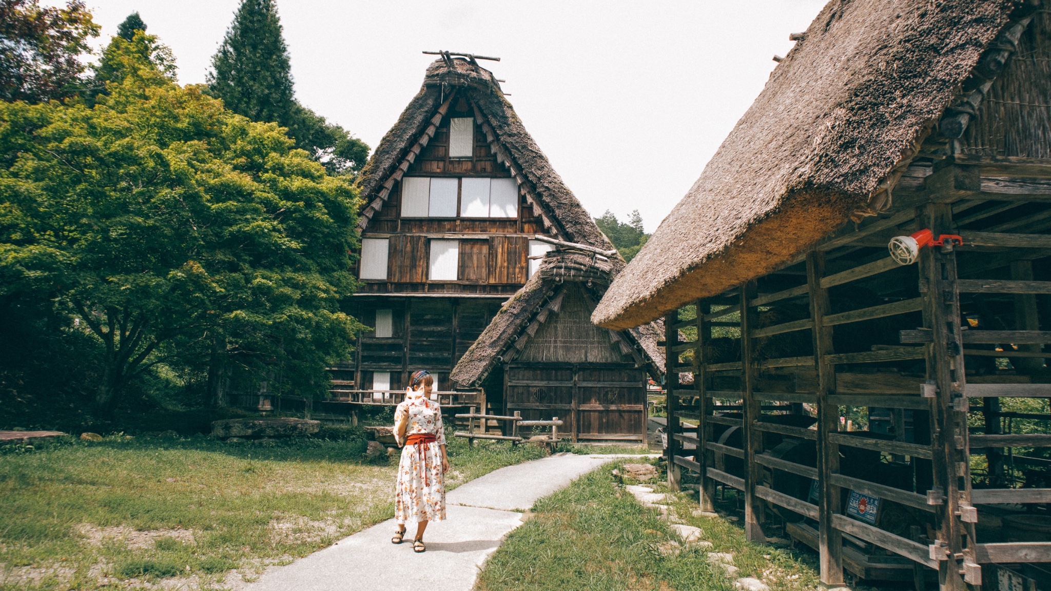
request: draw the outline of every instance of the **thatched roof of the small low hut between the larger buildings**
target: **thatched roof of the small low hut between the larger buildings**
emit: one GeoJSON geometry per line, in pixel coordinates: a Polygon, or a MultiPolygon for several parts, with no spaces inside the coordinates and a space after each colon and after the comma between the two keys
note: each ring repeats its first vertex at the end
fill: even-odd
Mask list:
{"type": "MultiPolygon", "coordinates": [[[[624,263],[619,260],[576,250],[548,252],[540,262],[539,270],[500,308],[456,364],[450,380],[462,388],[478,387],[498,363],[510,360],[515,354],[514,349],[524,346],[552,311],[558,312],[566,284],[586,286],[597,302],[623,267],[624,263]]],[[[621,353],[631,353],[642,361],[651,375],[659,380],[664,367],[664,354],[657,346],[662,337],[658,327],[644,324],[630,330],[610,332],[621,353]]]]}

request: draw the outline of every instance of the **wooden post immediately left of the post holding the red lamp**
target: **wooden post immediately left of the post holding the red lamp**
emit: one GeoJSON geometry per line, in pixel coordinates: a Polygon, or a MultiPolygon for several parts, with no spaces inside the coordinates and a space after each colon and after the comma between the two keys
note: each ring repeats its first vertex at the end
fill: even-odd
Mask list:
{"type": "Polygon", "coordinates": [[[831,475],[840,471],[840,448],[829,441],[829,434],[840,430],[840,409],[828,403],[828,395],[836,393],[836,366],[827,359],[832,353],[832,328],[825,326],[828,314],[828,290],[821,287],[825,274],[825,253],[811,250],[806,256],[806,282],[810,295],[810,320],[813,322],[813,361],[818,370],[818,553],[821,582],[825,585],[843,584],[843,536],[832,527],[832,515],[840,512],[840,488],[831,483],[831,475]]]}

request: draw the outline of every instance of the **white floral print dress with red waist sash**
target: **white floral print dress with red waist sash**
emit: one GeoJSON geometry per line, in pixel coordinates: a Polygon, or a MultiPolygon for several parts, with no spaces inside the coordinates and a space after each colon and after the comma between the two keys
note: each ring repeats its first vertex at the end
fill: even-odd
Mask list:
{"type": "Polygon", "coordinates": [[[440,522],[446,518],[446,483],[441,474],[440,447],[446,445],[446,433],[441,425],[441,409],[437,402],[427,400],[423,392],[410,391],[394,411],[394,425],[401,422],[407,422],[406,437],[413,433],[431,433],[435,441],[401,448],[397,488],[394,490],[394,516],[398,524],[440,522]]]}

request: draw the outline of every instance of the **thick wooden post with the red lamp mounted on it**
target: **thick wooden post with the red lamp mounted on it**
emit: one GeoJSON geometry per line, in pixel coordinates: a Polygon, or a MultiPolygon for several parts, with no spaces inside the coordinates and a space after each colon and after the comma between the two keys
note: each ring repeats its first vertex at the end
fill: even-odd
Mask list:
{"type": "MultiPolygon", "coordinates": [[[[951,206],[929,203],[927,223],[934,236],[952,233],[951,206]]],[[[964,564],[976,565],[976,559],[973,524],[970,524],[971,528],[965,528],[957,516],[961,503],[970,505],[971,478],[967,465],[966,376],[960,334],[955,251],[944,247],[924,248],[920,262],[924,324],[931,329],[933,337],[933,342],[927,346],[927,378],[937,388],[935,398],[930,399],[931,463],[934,487],[944,493],[941,505],[935,506],[937,539],[931,555],[939,558],[941,591],[966,591],[967,583],[961,573],[964,564]]],[[[973,584],[981,585],[981,579],[973,584]]]]}

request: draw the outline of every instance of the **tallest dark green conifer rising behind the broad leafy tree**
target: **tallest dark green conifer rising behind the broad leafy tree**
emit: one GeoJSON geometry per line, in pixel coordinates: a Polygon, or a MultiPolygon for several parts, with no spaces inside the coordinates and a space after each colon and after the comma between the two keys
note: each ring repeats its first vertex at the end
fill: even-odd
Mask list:
{"type": "Polygon", "coordinates": [[[242,1],[211,65],[209,91],[227,108],[252,121],[287,127],[295,146],[330,174],[353,172],[365,164],[368,145],[295,100],[288,47],[273,0],[242,1]]]}

